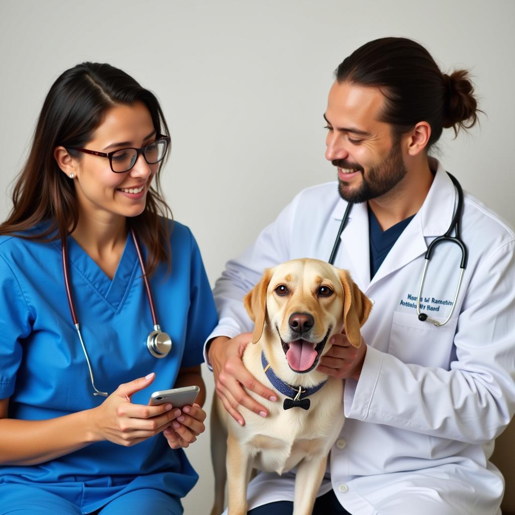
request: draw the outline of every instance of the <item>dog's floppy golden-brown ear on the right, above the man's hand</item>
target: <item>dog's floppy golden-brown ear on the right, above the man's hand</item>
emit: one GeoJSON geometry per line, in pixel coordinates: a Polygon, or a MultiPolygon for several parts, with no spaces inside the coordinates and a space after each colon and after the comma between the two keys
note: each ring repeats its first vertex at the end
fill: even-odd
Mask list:
{"type": "Polygon", "coordinates": [[[361,344],[362,325],[367,321],[372,303],[357,287],[347,270],[340,270],[340,281],[344,288],[344,320],[347,339],[354,347],[361,344]]]}

